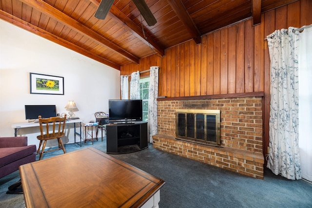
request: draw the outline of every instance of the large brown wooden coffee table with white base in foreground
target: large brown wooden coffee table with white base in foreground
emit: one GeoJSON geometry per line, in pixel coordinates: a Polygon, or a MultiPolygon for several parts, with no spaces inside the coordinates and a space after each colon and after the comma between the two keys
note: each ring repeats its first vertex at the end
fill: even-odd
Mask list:
{"type": "Polygon", "coordinates": [[[27,208],[158,207],[165,184],[95,148],[22,165],[20,178],[27,208]]]}

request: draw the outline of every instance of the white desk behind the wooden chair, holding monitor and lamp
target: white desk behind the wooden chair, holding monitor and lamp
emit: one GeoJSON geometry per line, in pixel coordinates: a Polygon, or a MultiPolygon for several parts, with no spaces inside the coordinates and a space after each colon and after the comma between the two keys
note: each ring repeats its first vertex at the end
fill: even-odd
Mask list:
{"type": "MultiPolygon", "coordinates": [[[[81,122],[82,122],[82,119],[72,119],[72,120],[66,120],[66,124],[70,124],[70,123],[73,123],[74,124],[74,137],[75,137],[75,143],[78,144],[76,142],[76,134],[79,135],[80,137],[80,147],[81,147],[81,122]],[[80,132],[76,132],[76,123],[79,123],[79,129],[80,129],[80,132]]],[[[51,123],[52,125],[52,123],[51,123]]],[[[21,129],[21,128],[29,128],[29,127],[39,127],[39,122],[25,122],[25,123],[15,123],[15,124],[12,124],[12,128],[14,129],[14,136],[17,136],[18,134],[18,131],[21,129]]]]}

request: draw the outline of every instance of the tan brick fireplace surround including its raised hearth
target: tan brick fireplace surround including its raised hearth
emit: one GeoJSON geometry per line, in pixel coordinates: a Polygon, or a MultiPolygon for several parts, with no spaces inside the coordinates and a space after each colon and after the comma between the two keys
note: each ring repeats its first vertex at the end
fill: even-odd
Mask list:
{"type": "Polygon", "coordinates": [[[153,146],[223,169],[263,179],[262,96],[207,99],[158,98],[153,146]],[[220,146],[176,139],[176,110],[220,110],[220,146]]]}

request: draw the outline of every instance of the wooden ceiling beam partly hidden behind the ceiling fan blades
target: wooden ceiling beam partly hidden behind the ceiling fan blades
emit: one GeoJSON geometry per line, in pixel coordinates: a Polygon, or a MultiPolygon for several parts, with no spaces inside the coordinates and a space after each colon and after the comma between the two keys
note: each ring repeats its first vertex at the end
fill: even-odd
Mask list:
{"type": "MultiPolygon", "coordinates": [[[[98,7],[100,0],[90,0],[94,5],[98,7]]],[[[143,34],[142,28],[138,27],[136,23],[134,23],[130,18],[128,18],[124,13],[122,13],[114,4],[112,5],[110,11],[112,15],[116,17],[116,19],[125,25],[129,31],[131,31],[137,38],[143,41],[145,44],[150,45],[154,51],[156,51],[160,56],[165,55],[164,48],[160,47],[153,38],[148,36],[145,33],[143,34]],[[146,38],[147,39],[146,39],[146,38]]]]}

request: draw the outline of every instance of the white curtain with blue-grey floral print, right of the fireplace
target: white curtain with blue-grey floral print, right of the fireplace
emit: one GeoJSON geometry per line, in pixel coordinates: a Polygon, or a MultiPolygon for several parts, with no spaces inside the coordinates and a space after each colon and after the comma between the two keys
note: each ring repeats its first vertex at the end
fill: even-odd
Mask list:
{"type": "Polygon", "coordinates": [[[300,179],[298,147],[298,34],[293,27],[267,37],[271,59],[270,151],[274,174],[300,179]]]}

